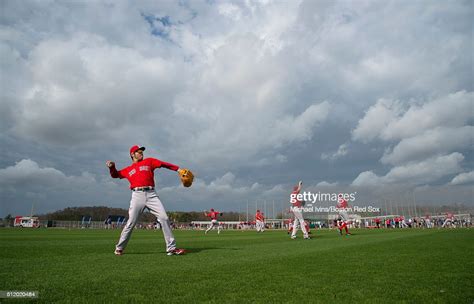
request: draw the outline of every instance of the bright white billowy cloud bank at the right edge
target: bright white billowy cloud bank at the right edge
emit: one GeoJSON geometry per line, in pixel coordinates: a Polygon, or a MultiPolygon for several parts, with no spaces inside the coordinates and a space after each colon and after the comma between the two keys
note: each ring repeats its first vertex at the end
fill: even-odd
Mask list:
{"type": "Polygon", "coordinates": [[[461,153],[472,149],[474,127],[469,124],[474,119],[474,93],[459,91],[421,105],[412,104],[406,109],[400,105],[398,101],[379,100],[352,131],[355,141],[368,143],[378,139],[381,143],[387,143],[380,162],[395,166],[382,178],[372,171],[362,172],[353,184],[377,184],[392,180],[398,183],[399,175],[408,177],[406,183],[429,183],[460,171],[459,164],[456,164],[446,174],[433,172],[428,178],[423,169],[430,167],[425,165],[434,159],[454,160],[453,155],[462,156],[461,153]],[[392,148],[393,143],[395,146],[392,148]],[[416,168],[419,174],[406,172],[405,168],[416,168]]]}

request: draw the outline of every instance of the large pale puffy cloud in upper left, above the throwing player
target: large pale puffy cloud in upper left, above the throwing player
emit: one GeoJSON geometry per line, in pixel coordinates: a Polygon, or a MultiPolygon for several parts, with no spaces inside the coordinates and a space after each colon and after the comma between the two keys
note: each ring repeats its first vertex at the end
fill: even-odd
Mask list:
{"type": "Polygon", "coordinates": [[[166,113],[165,101],[179,83],[179,68],[164,59],[145,58],[89,34],[42,41],[32,50],[29,66],[33,83],[22,95],[14,130],[62,145],[114,138],[156,114],[154,107],[166,113]],[[137,109],[144,108],[152,110],[137,117],[137,109]]]}

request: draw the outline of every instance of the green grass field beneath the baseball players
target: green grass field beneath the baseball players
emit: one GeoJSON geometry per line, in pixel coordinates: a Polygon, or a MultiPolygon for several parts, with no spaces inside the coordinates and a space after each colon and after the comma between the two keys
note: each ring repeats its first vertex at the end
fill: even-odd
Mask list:
{"type": "Polygon", "coordinates": [[[0,303],[473,303],[473,229],[353,232],[0,229],[0,290],[39,291],[0,303]]]}

